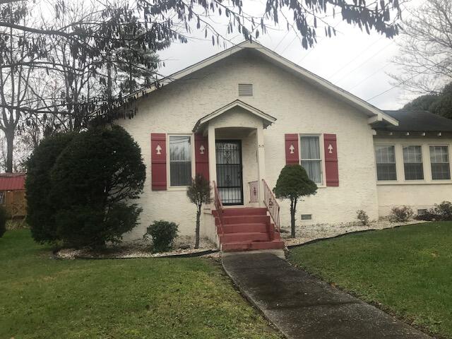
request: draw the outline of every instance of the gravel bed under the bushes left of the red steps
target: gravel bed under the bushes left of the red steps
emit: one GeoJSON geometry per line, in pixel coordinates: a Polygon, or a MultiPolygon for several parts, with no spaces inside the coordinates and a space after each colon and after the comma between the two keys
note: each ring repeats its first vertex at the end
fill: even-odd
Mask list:
{"type": "Polygon", "coordinates": [[[145,238],[134,242],[124,242],[117,245],[109,245],[103,251],[90,249],[60,249],[54,255],[57,258],[158,258],[163,256],[180,256],[197,254],[206,251],[216,251],[217,246],[209,239],[200,239],[199,248],[194,248],[194,237],[179,236],[174,239],[172,251],[153,253],[151,252],[152,240],[145,238]]]}

